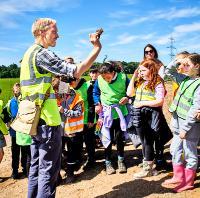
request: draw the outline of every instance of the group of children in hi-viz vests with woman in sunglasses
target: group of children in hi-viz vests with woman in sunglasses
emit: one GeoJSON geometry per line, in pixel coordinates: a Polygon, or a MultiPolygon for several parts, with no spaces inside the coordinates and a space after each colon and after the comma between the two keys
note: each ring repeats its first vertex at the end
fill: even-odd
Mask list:
{"type": "MultiPolygon", "coordinates": [[[[66,61],[73,62],[73,58],[67,57],[66,61]]],[[[134,178],[158,174],[159,163],[162,162],[161,166],[164,166],[163,162],[166,163],[163,155],[164,145],[172,138],[173,133],[170,145],[173,177],[166,180],[163,185],[176,185],[173,189],[175,192],[193,189],[200,139],[200,55],[179,53],[164,69],[156,49],[148,44],[144,48],[144,60],[135,70],[131,80],[114,61],[104,62],[99,68],[92,67],[89,75],[89,81],[84,78],[71,79],[69,84],[66,84],[59,77],[55,77],[52,82],[62,118],[61,168],[66,173],[63,181],[75,181],[74,172],[83,165],[84,143],[87,160],[83,170],[89,171],[95,167],[96,125],[98,138],[104,147],[107,175],[116,173],[112,145],[117,147],[118,172],[126,173],[124,146],[129,137],[129,126],[134,128],[134,133],[139,137],[143,154],[142,170],[135,173],[134,178]],[[172,113],[171,130],[162,111],[167,94],[164,76],[171,78],[174,86],[174,99],[169,108],[172,113]],[[128,122],[127,104],[132,108],[128,122]]],[[[6,105],[11,122],[18,111],[20,84],[16,83],[13,86],[13,95],[6,105]]],[[[2,112],[1,100],[0,108],[2,112]]],[[[3,147],[6,146],[4,135],[7,132],[3,117],[0,117],[0,162],[3,158],[3,147]]],[[[22,171],[25,176],[28,175],[31,137],[15,132],[12,128],[9,132],[12,177],[18,179],[20,151],[22,171]]],[[[61,176],[60,179],[62,180],[61,176]]]]}

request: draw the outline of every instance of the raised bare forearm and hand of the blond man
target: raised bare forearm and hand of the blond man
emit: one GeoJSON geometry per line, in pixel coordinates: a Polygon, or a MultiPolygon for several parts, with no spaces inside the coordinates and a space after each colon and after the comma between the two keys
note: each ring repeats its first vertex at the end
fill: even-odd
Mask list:
{"type": "Polygon", "coordinates": [[[101,51],[101,43],[99,41],[98,33],[90,34],[90,42],[93,45],[93,49],[89,56],[77,66],[77,69],[74,72],[74,77],[76,78],[80,78],[80,76],[91,67],[92,63],[96,60],[101,51]]]}

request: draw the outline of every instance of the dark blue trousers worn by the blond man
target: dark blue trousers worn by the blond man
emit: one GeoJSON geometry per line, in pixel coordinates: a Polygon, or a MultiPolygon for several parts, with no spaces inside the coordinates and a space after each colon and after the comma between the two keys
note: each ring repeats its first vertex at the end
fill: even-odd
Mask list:
{"type": "Polygon", "coordinates": [[[61,165],[60,126],[38,126],[32,137],[28,198],[53,198],[61,165]]]}

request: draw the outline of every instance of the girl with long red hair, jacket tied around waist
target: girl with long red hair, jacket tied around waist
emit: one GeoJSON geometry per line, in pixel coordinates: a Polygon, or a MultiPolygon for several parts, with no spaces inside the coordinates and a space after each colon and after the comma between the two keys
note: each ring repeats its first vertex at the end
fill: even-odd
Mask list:
{"type": "Polygon", "coordinates": [[[158,75],[157,64],[154,59],[142,61],[134,72],[127,89],[129,97],[135,94],[133,115],[129,120],[129,125],[132,124],[135,127],[143,152],[142,170],[134,174],[134,178],[157,175],[154,169],[154,140],[156,135],[168,130],[162,113],[165,87],[163,79],[158,75]],[[161,125],[165,125],[166,129],[161,125]]]}

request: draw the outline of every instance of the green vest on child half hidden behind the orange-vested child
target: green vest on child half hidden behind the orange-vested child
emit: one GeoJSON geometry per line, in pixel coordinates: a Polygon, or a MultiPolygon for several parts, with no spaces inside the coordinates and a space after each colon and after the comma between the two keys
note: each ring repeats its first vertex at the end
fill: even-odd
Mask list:
{"type": "Polygon", "coordinates": [[[76,90],[77,93],[80,94],[81,98],[83,99],[84,103],[84,124],[88,123],[88,95],[87,95],[87,90],[88,90],[89,84],[87,82],[84,82],[82,86],[76,90]]]}

